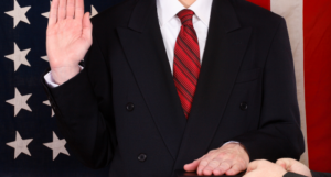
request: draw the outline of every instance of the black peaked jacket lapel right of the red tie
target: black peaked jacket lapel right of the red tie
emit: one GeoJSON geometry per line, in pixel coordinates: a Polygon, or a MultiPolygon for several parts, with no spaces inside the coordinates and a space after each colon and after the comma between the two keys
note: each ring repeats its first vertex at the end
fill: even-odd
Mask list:
{"type": "Polygon", "coordinates": [[[182,168],[183,164],[207,152],[231,96],[250,32],[250,27],[241,27],[229,0],[213,1],[196,92],[175,168],[182,168]]]}

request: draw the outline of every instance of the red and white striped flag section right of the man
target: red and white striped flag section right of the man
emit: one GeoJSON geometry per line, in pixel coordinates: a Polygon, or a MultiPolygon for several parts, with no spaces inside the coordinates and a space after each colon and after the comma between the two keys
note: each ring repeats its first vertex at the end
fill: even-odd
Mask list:
{"type": "Polygon", "coordinates": [[[291,43],[301,130],[301,162],[331,173],[331,1],[248,0],[287,22],[291,43]]]}

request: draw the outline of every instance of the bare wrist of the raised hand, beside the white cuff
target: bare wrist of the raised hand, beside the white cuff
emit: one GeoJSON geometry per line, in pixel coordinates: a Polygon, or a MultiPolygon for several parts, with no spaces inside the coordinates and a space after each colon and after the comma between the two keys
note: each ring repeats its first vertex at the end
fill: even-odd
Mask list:
{"type": "Polygon", "coordinates": [[[75,77],[81,71],[79,65],[73,67],[58,67],[52,68],[52,77],[54,82],[57,85],[62,85],[71,78],[75,77]]]}

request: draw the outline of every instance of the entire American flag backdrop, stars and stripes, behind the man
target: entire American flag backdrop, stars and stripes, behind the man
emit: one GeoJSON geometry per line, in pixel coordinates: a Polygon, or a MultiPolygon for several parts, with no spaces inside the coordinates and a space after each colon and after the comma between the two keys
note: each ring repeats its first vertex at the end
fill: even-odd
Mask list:
{"type": "MultiPolygon", "coordinates": [[[[85,0],[85,10],[96,15],[119,1],[85,0]]],[[[307,142],[301,162],[331,173],[331,1],[249,1],[287,21],[307,142]]],[[[0,2],[0,176],[108,176],[72,154],[41,86],[49,9],[47,0],[0,2]]]]}

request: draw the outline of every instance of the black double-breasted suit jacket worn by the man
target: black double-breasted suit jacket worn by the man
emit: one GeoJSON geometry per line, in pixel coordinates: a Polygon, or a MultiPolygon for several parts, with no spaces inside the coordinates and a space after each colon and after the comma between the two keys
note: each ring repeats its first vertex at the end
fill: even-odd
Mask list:
{"type": "Polygon", "coordinates": [[[214,0],[186,120],[156,0],[127,0],[93,19],[85,68],[44,88],[68,145],[110,176],[173,176],[227,141],[250,161],[298,159],[303,137],[285,20],[244,0],[214,0]]]}

